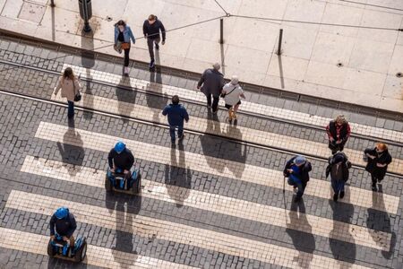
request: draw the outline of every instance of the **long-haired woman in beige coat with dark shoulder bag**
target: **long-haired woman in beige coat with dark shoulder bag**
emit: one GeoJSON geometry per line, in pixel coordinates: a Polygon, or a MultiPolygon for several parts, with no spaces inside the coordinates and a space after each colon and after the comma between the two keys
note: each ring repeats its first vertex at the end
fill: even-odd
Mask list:
{"type": "Polygon", "coordinates": [[[81,100],[81,85],[78,78],[73,74],[72,68],[67,67],[64,69],[64,73],[55,87],[55,95],[60,89],[62,89],[62,97],[67,99],[67,117],[72,119],[74,117],[74,101],[81,100]]]}

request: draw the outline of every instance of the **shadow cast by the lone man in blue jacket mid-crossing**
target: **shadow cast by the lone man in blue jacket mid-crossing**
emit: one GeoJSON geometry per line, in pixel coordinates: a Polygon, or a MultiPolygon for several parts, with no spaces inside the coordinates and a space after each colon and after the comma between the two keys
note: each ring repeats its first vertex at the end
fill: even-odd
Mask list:
{"type": "Polygon", "coordinates": [[[178,143],[179,151],[175,147],[171,148],[171,163],[165,165],[165,184],[167,187],[167,194],[176,202],[177,207],[184,205],[184,200],[190,195],[192,187],[192,172],[189,168],[180,169],[178,167],[186,167],[184,157],[184,144],[178,143]],[[179,152],[179,160],[177,160],[176,152],[179,152]],[[183,189],[178,192],[177,187],[183,189]]]}

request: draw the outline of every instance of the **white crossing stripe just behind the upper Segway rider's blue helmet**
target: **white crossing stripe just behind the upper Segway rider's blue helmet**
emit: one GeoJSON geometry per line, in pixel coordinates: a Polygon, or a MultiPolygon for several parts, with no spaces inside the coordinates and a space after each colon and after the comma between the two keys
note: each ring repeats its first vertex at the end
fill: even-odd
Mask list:
{"type": "MultiPolygon", "coordinates": [[[[68,143],[102,152],[109,152],[113,147],[114,142],[124,140],[127,147],[132,150],[135,158],[141,160],[174,165],[183,169],[192,169],[263,186],[280,189],[283,188],[283,174],[278,170],[266,169],[236,161],[227,161],[210,156],[203,156],[193,152],[182,152],[155,144],[122,139],[108,134],[99,134],[82,129],[72,129],[67,126],[41,122],[35,137],[59,143],[68,143]],[[171,154],[176,154],[175,152],[183,154],[184,161],[171,163],[170,156],[171,154]]],[[[368,182],[368,184],[370,184],[370,182],[368,182]]],[[[287,189],[291,190],[292,187],[287,186],[287,189]]],[[[329,199],[330,182],[311,178],[308,187],[305,189],[305,194],[329,199]]],[[[394,214],[397,213],[399,207],[399,197],[397,196],[384,195],[381,193],[374,194],[371,191],[357,187],[347,187],[346,196],[342,201],[363,207],[373,207],[374,209],[394,214]]]]}

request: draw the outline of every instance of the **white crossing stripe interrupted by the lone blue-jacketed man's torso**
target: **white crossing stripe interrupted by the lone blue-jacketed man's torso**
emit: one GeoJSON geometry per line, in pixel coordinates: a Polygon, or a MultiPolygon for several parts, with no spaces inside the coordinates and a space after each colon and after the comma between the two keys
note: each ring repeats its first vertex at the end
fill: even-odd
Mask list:
{"type": "MultiPolygon", "coordinates": [[[[161,124],[167,123],[167,118],[161,114],[160,109],[133,105],[123,101],[110,100],[91,94],[82,95],[83,98],[80,105],[84,107],[86,103],[90,103],[91,108],[96,108],[104,112],[115,113],[127,117],[137,117],[142,120],[157,121],[161,124]]],[[[52,94],[51,99],[59,101],[64,100],[61,97],[61,93],[57,96],[52,94]]],[[[322,158],[328,158],[330,155],[328,145],[324,143],[317,143],[283,134],[264,132],[243,126],[232,126],[225,122],[218,123],[217,121],[206,118],[191,117],[191,120],[185,126],[196,132],[225,135],[231,138],[242,139],[242,141],[245,142],[259,143],[291,152],[309,152],[310,154],[315,154],[322,158]]],[[[344,149],[344,152],[346,152],[349,161],[359,165],[366,164],[363,161],[363,152],[347,148],[344,149]]],[[[393,159],[388,170],[403,174],[403,161],[396,158],[393,159]]]]}

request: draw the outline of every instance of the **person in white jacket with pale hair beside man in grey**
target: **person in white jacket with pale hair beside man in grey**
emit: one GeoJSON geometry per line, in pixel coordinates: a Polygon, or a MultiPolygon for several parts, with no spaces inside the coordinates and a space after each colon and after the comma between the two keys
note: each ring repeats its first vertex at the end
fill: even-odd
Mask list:
{"type": "Polygon", "coordinates": [[[244,91],[238,82],[238,77],[233,75],[231,82],[225,84],[221,91],[221,97],[224,98],[226,108],[228,109],[229,122],[236,119],[236,111],[238,111],[239,105],[241,104],[241,98],[245,98],[244,91]]]}

